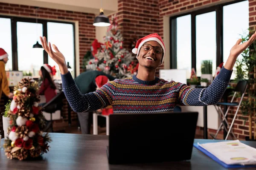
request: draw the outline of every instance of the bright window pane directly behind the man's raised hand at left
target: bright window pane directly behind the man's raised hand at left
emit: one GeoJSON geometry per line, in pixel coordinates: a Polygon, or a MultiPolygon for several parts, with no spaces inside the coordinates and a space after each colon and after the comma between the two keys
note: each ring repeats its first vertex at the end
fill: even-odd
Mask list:
{"type": "MultiPolygon", "coordinates": [[[[75,71],[75,53],[74,53],[74,30],[72,24],[66,23],[47,23],[47,37],[48,41],[52,44],[58,45],[58,49],[64,55],[66,62],[69,62],[73,71],[70,71],[71,74],[74,75],[75,71]]],[[[48,63],[51,66],[56,67],[57,73],[56,77],[61,77],[60,71],[58,69],[58,65],[51,57],[48,56],[48,63]]]]}

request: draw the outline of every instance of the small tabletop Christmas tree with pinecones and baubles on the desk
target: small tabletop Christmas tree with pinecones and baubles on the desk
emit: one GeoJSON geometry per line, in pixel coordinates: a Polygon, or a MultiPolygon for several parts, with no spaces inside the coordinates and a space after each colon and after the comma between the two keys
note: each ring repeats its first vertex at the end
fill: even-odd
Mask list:
{"type": "Polygon", "coordinates": [[[45,123],[39,101],[38,82],[24,78],[15,86],[8,113],[10,127],[4,143],[7,158],[23,160],[49,151],[51,138],[43,133],[45,123]]]}

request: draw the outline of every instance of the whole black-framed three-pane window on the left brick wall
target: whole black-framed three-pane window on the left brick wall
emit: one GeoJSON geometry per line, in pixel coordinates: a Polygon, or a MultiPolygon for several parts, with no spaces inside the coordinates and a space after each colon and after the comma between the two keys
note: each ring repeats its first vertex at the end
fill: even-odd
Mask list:
{"type": "Polygon", "coordinates": [[[66,61],[73,68],[71,74],[75,77],[74,23],[1,16],[0,25],[0,48],[9,54],[6,70],[31,72],[32,77],[38,78],[41,66],[46,63],[55,65],[57,74],[54,78],[60,79],[60,71],[46,51],[43,48],[32,48],[37,41],[41,44],[39,37],[44,36],[48,42],[58,45],[66,61]]]}

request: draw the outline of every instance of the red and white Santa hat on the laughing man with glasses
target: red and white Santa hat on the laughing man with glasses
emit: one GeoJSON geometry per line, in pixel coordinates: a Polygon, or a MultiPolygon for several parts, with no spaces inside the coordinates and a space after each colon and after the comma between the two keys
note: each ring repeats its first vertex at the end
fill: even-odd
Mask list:
{"type": "Polygon", "coordinates": [[[132,52],[134,54],[137,54],[136,58],[138,57],[138,54],[139,54],[139,51],[140,51],[140,48],[142,47],[143,44],[145,44],[145,42],[148,42],[148,41],[156,41],[158,42],[161,47],[163,48],[163,57],[162,57],[162,61],[161,61],[161,64],[163,64],[163,60],[164,60],[164,57],[165,57],[165,46],[164,46],[164,43],[163,43],[163,40],[162,38],[157,34],[157,33],[154,33],[154,34],[149,34],[141,39],[139,39],[135,45],[135,48],[132,49],[132,52]]]}

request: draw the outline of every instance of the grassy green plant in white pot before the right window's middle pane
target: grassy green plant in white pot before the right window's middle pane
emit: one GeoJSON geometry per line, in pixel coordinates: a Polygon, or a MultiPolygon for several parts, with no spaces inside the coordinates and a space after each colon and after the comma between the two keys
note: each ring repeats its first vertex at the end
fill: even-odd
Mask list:
{"type": "Polygon", "coordinates": [[[201,64],[201,79],[208,79],[212,82],[212,60],[203,60],[201,64]]]}

